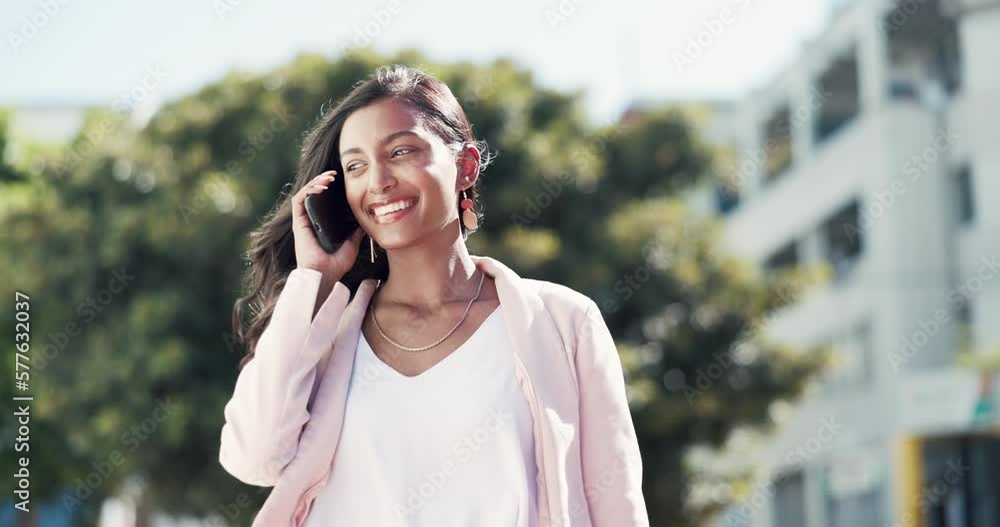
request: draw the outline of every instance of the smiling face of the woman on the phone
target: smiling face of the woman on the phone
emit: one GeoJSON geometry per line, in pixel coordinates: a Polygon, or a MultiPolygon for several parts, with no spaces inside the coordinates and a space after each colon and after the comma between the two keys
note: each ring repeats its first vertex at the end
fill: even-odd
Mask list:
{"type": "Polygon", "coordinates": [[[338,148],[351,211],[380,246],[405,247],[457,220],[459,164],[412,105],[381,99],[356,110],[338,148]]]}

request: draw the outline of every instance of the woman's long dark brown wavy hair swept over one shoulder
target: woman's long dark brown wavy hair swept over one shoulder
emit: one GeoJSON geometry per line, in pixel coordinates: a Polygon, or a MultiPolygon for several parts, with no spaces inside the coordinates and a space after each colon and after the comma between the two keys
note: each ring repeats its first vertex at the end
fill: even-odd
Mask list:
{"type": "MultiPolygon", "coordinates": [[[[292,236],[292,196],[322,172],[337,170],[342,173],[337,147],[344,122],[356,110],[384,97],[413,105],[423,116],[423,126],[436,133],[453,152],[457,153],[466,146],[477,148],[480,152],[480,171],[492,159],[486,143],[473,136],[469,119],[451,90],[433,76],[415,68],[394,64],[380,66],[367,79],[355,83],[350,93],[320,117],[318,123],[306,134],[299,154],[295,181],[285,185],[285,191],[279,195],[262,225],[250,233],[251,246],[246,255],[249,269],[244,276],[244,287],[249,292],[233,306],[235,337],[248,350],[240,361],[240,369],[253,358],[257,341],[271,319],[285,281],[297,265],[292,236]],[[250,307],[253,308],[249,310],[251,318],[249,322],[244,322],[250,307]]],[[[344,185],[344,178],[338,177],[334,184],[344,185]]],[[[479,202],[478,187],[479,179],[465,191],[473,203],[479,202]]],[[[459,197],[456,193],[456,208],[459,207],[459,197]]],[[[481,211],[480,206],[475,206],[474,209],[481,211]]],[[[461,221],[459,225],[462,238],[468,239],[469,232],[465,225],[461,221]]],[[[341,279],[350,289],[351,298],[362,280],[385,280],[389,277],[385,251],[376,245],[375,263],[371,263],[369,251],[366,250],[368,245],[367,240],[362,239],[362,250],[358,251],[354,266],[341,279]]],[[[322,300],[317,300],[320,301],[322,300]]]]}

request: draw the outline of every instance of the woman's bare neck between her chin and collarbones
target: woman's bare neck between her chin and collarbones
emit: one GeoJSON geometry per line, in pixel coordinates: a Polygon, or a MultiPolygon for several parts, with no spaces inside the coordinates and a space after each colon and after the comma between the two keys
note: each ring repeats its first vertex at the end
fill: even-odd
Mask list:
{"type": "Polygon", "coordinates": [[[468,302],[484,278],[457,229],[455,235],[429,237],[409,247],[386,250],[386,254],[389,278],[378,290],[383,305],[433,312],[448,304],[468,302]]]}

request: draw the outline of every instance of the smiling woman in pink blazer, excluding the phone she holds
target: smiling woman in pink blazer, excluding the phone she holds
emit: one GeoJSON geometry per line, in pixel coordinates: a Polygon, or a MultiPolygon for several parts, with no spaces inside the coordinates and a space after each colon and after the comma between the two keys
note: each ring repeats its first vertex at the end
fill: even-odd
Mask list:
{"type": "Polygon", "coordinates": [[[648,525],[596,304],[466,248],[484,152],[448,87],[402,66],[307,136],[235,308],[251,352],[219,460],[274,486],[254,525],[648,525]],[[331,254],[304,200],[334,185],[359,228],[331,254]]]}

